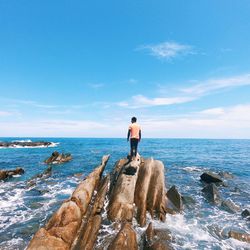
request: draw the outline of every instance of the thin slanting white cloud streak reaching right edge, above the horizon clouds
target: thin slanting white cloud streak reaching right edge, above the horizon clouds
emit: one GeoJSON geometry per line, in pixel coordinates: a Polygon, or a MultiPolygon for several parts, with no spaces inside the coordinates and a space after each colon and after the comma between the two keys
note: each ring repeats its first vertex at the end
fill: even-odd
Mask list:
{"type": "Polygon", "coordinates": [[[204,95],[213,91],[250,85],[250,74],[227,78],[208,79],[188,88],[181,89],[186,94],[204,95]]]}

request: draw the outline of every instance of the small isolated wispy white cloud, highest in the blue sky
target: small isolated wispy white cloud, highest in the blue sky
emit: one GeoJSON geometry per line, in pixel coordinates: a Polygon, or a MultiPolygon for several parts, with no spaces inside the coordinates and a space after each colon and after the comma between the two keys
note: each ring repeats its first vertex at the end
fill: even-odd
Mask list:
{"type": "Polygon", "coordinates": [[[177,42],[163,42],[154,45],[143,45],[138,49],[149,51],[152,56],[160,59],[173,59],[177,56],[195,54],[192,46],[177,42]]]}

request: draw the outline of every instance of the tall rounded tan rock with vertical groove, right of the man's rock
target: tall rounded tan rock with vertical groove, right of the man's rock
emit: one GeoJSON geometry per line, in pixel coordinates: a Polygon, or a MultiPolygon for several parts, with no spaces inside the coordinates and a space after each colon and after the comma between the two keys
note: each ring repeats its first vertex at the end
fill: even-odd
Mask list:
{"type": "Polygon", "coordinates": [[[164,165],[161,161],[146,159],[139,168],[139,176],[135,189],[137,221],[140,226],[146,225],[146,211],[152,218],[154,215],[165,220],[165,180],[164,165]]]}

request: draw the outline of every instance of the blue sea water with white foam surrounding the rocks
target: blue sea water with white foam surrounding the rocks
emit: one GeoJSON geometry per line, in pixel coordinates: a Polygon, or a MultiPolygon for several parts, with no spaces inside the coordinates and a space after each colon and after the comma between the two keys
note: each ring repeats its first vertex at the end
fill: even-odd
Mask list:
{"type": "MultiPolygon", "coordinates": [[[[103,155],[110,154],[105,170],[108,173],[129,151],[126,139],[0,138],[14,140],[42,140],[56,145],[0,149],[0,169],[25,169],[23,175],[0,182],[0,249],[25,249],[32,235],[100,163],[103,155]],[[28,180],[47,168],[43,161],[55,150],[71,153],[73,160],[53,165],[49,178],[29,187],[28,180]]],[[[250,249],[247,243],[223,237],[230,229],[250,233],[249,221],[241,217],[241,212],[231,214],[208,203],[199,180],[207,170],[232,173],[234,178],[227,180],[228,187],[220,188],[221,195],[241,210],[250,209],[250,140],[143,139],[139,153],[144,158],[163,161],[166,187],[175,185],[182,195],[196,201],[182,214],[167,215],[165,223],[153,221],[156,227],[172,232],[175,249],[250,249]]]]}

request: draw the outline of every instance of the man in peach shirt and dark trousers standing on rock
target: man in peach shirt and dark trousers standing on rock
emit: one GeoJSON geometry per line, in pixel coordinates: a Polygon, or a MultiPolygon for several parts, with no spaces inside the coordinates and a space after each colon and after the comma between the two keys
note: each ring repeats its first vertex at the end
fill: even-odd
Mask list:
{"type": "Polygon", "coordinates": [[[130,140],[130,159],[131,160],[133,159],[133,157],[136,157],[138,143],[141,140],[141,127],[136,121],[137,121],[136,117],[132,117],[131,124],[129,125],[129,128],[128,128],[127,141],[130,140]]]}

